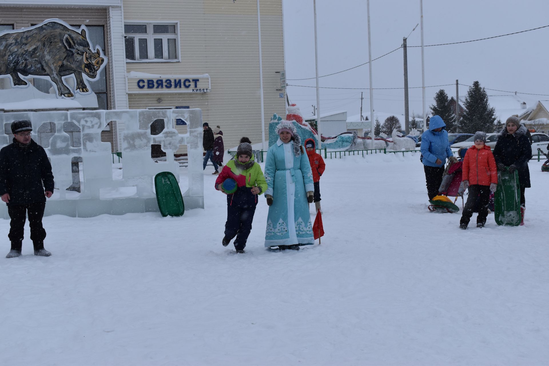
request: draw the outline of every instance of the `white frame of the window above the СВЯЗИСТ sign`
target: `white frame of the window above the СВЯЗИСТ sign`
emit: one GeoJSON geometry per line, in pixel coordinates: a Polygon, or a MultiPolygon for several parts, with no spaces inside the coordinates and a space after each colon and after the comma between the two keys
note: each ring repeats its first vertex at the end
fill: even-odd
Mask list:
{"type": "MultiPolygon", "coordinates": [[[[181,62],[181,41],[179,35],[179,21],[133,21],[128,20],[124,22],[124,25],[146,25],[147,34],[142,33],[124,33],[124,38],[133,38],[133,48],[136,55],[136,60],[130,60],[126,58],[126,63],[158,63],[158,62],[181,62]],[[173,25],[175,26],[175,34],[154,34],[153,26],[154,25],[173,25]],[[139,39],[144,38],[147,40],[147,52],[148,57],[154,57],[154,39],[160,38],[162,40],[163,48],[163,59],[138,59],[139,58],[139,39]],[[175,39],[176,42],[176,58],[169,60],[168,57],[168,41],[167,40],[175,39]]],[[[126,52],[125,42],[124,42],[124,52],[126,52]]]]}

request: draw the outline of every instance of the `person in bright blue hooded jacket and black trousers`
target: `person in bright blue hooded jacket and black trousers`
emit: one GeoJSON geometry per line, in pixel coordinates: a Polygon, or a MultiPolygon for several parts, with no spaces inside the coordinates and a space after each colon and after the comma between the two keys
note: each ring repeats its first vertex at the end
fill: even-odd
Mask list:
{"type": "Polygon", "coordinates": [[[450,149],[448,132],[444,127],[446,123],[439,116],[433,116],[429,121],[429,130],[421,135],[421,155],[429,200],[439,194],[446,158],[457,162],[450,149]]]}

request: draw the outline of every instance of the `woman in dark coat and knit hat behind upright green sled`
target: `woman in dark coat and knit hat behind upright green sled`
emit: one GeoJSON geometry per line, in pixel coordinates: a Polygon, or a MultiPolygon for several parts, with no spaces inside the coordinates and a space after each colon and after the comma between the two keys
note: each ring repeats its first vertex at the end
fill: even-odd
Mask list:
{"type": "Polygon", "coordinates": [[[520,125],[518,117],[511,116],[507,119],[506,126],[503,127],[503,131],[501,131],[494,148],[497,170],[503,170],[507,167],[509,168],[509,172],[518,171],[520,213],[522,216],[520,220],[521,225],[524,225],[524,190],[530,188],[528,161],[532,158],[532,148],[526,132],[528,130],[523,125],[520,125]]]}

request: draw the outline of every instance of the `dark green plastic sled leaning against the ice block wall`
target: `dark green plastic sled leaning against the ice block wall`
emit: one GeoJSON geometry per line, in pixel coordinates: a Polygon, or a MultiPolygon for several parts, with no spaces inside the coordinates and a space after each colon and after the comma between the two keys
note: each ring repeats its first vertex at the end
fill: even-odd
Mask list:
{"type": "Polygon", "coordinates": [[[161,172],[154,177],[156,201],[162,216],[182,216],[185,205],[177,179],[171,172],[161,172]]]}

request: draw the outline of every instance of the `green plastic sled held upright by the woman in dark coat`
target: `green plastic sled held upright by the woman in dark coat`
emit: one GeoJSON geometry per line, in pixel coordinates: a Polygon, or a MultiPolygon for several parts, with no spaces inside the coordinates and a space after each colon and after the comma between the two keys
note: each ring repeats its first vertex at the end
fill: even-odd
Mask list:
{"type": "Polygon", "coordinates": [[[520,224],[520,185],[517,171],[497,172],[494,218],[498,225],[518,226],[520,224]]]}

